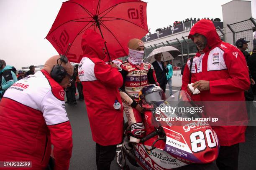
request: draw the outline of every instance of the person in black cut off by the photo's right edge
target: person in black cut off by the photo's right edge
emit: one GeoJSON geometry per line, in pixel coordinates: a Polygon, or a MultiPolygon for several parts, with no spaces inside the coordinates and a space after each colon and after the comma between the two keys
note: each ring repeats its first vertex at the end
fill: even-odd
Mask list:
{"type": "MultiPolygon", "coordinates": [[[[251,73],[251,78],[256,80],[256,47],[253,48],[253,53],[248,57],[248,67],[251,73]]],[[[251,88],[253,90],[254,95],[256,95],[256,85],[255,82],[252,83],[251,88]]]]}

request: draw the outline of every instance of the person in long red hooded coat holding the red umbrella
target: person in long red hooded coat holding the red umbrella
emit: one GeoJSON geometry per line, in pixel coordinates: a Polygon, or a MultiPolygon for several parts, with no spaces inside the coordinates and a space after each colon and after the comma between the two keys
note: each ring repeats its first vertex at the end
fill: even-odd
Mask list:
{"type": "Polygon", "coordinates": [[[98,170],[110,169],[116,145],[123,138],[123,109],[118,90],[123,77],[115,64],[103,61],[107,57],[104,42],[97,32],[84,32],[81,43],[84,56],[78,67],[92,139],[96,143],[98,170]],[[114,104],[119,108],[114,108],[114,104]]]}

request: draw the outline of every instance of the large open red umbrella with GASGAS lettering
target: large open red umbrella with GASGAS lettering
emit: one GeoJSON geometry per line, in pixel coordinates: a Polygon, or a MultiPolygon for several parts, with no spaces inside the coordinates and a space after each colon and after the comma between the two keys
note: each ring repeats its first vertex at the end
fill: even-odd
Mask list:
{"type": "Polygon", "coordinates": [[[69,0],[61,9],[46,39],[70,62],[82,59],[81,40],[92,29],[105,39],[110,60],[128,55],[128,41],[148,33],[146,2],[141,0],[69,0]]]}

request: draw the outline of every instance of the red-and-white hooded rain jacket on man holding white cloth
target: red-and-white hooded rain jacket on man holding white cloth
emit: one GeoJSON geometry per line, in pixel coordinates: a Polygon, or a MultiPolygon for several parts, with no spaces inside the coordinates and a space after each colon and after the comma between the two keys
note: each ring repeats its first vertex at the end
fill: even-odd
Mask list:
{"type": "MultiPolygon", "coordinates": [[[[210,20],[200,20],[189,33],[189,38],[195,33],[207,38],[207,46],[197,60],[197,80],[210,81],[210,90],[200,93],[202,101],[244,101],[244,91],[250,87],[246,60],[243,53],[233,45],[220,40],[213,23],[210,20]]],[[[221,103],[220,103],[221,104],[221,103]]],[[[222,106],[225,107],[225,105],[222,106]]],[[[217,112],[223,108],[205,108],[206,112],[217,112]]],[[[225,108],[224,108],[225,109],[225,108]]],[[[230,115],[247,115],[246,108],[228,108],[230,115]],[[233,110],[232,110],[233,109],[233,110]]],[[[212,127],[218,135],[220,145],[230,146],[245,142],[245,126],[215,126],[212,127]]]]}

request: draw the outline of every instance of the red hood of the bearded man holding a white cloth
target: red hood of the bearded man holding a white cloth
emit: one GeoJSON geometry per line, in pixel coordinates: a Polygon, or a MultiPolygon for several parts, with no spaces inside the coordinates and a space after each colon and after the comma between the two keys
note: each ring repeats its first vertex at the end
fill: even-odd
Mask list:
{"type": "Polygon", "coordinates": [[[209,50],[210,48],[216,46],[219,42],[221,42],[220,37],[216,31],[216,28],[211,20],[200,20],[198,21],[190,30],[188,38],[193,40],[192,35],[202,34],[207,39],[207,46],[204,51],[209,50]]]}

